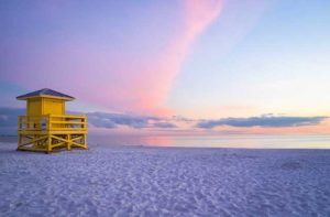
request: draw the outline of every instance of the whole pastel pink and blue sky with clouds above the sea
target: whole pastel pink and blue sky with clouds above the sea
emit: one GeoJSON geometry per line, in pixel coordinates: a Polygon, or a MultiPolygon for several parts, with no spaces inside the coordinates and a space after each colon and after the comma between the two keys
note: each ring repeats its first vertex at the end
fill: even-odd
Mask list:
{"type": "Polygon", "coordinates": [[[0,132],[16,96],[77,98],[95,133],[330,133],[330,2],[0,2],[0,132]]]}

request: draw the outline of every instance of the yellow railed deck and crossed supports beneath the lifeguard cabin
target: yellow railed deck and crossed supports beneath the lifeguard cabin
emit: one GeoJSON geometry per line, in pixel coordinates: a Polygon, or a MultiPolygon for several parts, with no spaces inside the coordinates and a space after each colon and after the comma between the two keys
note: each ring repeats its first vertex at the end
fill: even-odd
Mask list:
{"type": "Polygon", "coordinates": [[[21,151],[52,152],[73,148],[87,149],[87,118],[75,115],[19,116],[21,151]]]}

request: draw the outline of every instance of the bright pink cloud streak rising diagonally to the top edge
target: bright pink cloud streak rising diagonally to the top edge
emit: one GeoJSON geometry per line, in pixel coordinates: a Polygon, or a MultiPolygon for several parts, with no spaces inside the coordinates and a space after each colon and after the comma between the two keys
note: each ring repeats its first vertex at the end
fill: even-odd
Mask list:
{"type": "MultiPolygon", "coordinates": [[[[183,26],[170,40],[166,50],[146,68],[140,69],[132,84],[136,101],[132,106],[143,111],[162,113],[163,102],[170,86],[196,39],[217,19],[222,7],[221,0],[185,0],[183,2],[183,26]]],[[[128,93],[128,94],[132,94],[128,93]]]]}

